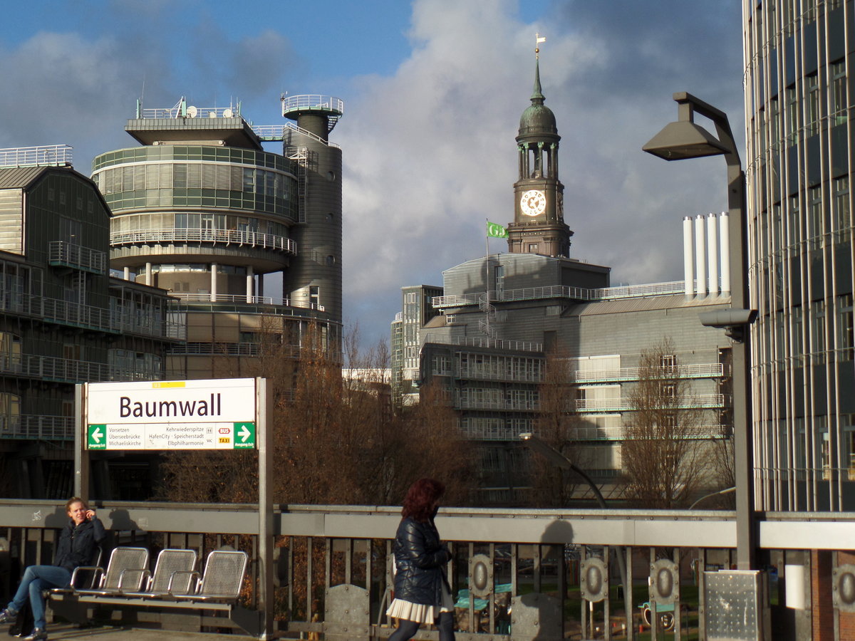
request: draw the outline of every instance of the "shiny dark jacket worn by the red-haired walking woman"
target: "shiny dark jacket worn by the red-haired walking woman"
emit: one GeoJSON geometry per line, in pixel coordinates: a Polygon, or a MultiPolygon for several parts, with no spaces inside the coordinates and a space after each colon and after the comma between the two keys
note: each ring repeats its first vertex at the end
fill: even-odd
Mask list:
{"type": "MultiPolygon", "coordinates": [[[[439,532],[433,520],[422,521],[407,517],[401,520],[395,535],[395,598],[440,605],[445,564],[451,553],[439,542],[439,532]]],[[[446,583],[447,586],[447,583],[446,583]]]]}

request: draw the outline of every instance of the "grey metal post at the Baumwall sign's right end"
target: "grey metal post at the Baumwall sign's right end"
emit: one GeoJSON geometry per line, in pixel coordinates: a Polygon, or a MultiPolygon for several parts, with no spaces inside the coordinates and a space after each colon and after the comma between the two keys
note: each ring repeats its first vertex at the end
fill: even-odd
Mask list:
{"type": "Polygon", "coordinates": [[[268,416],[273,415],[273,397],[268,394],[267,379],[256,379],[256,435],[258,439],[258,608],[262,612],[262,630],[259,638],[274,637],[274,581],[273,581],[273,440],[268,416]]]}

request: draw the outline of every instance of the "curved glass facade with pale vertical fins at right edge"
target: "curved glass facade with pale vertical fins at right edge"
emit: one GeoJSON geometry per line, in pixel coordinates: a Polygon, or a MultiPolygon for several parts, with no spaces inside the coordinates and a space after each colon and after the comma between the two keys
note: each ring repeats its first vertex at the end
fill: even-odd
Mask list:
{"type": "Polygon", "coordinates": [[[852,0],[744,0],[758,509],[855,509],[852,0]]]}

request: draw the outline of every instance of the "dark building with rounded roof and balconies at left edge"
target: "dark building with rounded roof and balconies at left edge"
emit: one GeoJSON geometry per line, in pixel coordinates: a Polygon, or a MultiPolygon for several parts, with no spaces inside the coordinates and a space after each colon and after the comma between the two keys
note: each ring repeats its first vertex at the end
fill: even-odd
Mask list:
{"type": "MultiPolygon", "coordinates": [[[[74,385],[163,377],[166,292],[109,276],[109,208],[62,145],[0,150],[0,485],[68,497],[74,385]]],[[[148,483],[96,462],[101,486],[148,483]]],[[[139,477],[139,478],[138,478],[139,477]]],[[[118,485],[117,485],[118,487],[118,485]]]]}

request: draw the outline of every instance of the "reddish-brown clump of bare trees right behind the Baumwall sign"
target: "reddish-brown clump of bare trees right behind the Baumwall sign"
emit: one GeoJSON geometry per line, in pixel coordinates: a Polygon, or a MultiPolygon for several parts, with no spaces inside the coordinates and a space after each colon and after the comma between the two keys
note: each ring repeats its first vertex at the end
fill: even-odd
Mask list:
{"type": "MultiPolygon", "coordinates": [[[[445,480],[450,502],[462,502],[474,475],[451,409],[433,391],[407,413],[393,407],[385,346],[361,354],[357,344],[356,332],[330,344],[314,327],[294,346],[279,327],[259,327],[254,366],[242,364],[242,373],[263,376],[273,391],[274,501],[398,503],[412,481],[430,475],[445,480]],[[343,364],[358,375],[344,377],[343,364]]],[[[164,496],[254,500],[252,455],[234,455],[168,455],[164,496]]]]}

